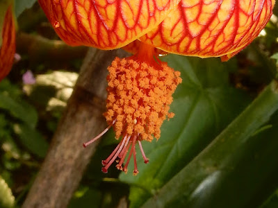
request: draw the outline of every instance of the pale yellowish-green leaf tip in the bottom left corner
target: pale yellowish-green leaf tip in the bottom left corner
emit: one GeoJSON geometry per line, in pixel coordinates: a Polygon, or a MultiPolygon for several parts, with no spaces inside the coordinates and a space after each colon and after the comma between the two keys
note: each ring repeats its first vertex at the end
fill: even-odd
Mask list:
{"type": "Polygon", "coordinates": [[[6,184],[5,180],[0,176],[0,207],[8,208],[13,207],[15,203],[15,197],[12,191],[6,184]]]}

